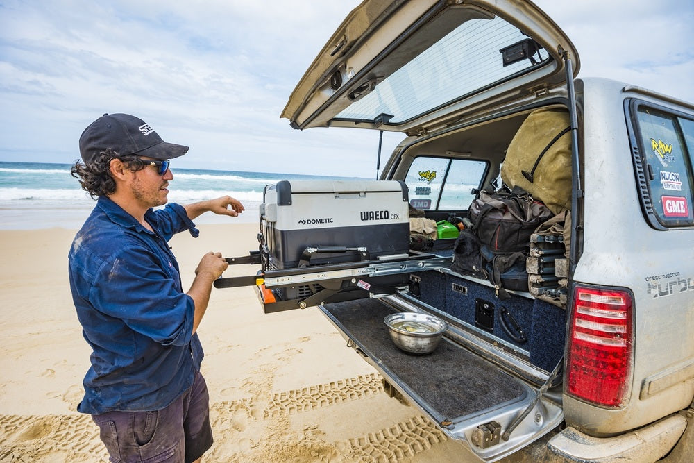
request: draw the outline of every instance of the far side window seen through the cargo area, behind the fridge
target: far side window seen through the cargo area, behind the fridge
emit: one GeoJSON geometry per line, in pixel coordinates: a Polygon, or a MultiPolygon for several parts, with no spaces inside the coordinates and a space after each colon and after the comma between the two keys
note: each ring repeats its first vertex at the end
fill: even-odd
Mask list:
{"type": "Polygon", "coordinates": [[[467,209],[485,171],[483,161],[419,156],[405,177],[409,203],[423,210],[467,209]]]}

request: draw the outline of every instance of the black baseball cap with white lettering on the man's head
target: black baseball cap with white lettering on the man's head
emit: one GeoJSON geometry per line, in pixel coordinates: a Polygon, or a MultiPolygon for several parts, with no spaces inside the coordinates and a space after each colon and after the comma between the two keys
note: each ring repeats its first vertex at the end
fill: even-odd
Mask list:
{"type": "Polygon", "coordinates": [[[167,143],[149,124],[128,114],[105,114],[92,122],[80,137],[80,155],[85,164],[112,149],[119,156],[137,154],[158,160],[178,158],[187,146],[167,143]]]}

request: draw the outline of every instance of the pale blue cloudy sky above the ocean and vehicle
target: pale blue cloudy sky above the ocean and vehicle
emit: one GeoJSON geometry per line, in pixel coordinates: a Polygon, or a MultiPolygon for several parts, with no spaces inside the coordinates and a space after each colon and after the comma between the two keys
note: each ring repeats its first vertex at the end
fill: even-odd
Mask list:
{"type": "MultiPolygon", "coordinates": [[[[536,0],[602,76],[694,101],[694,2],[536,0]]],[[[289,94],[357,0],[0,0],[0,161],[79,158],[104,112],[176,167],[372,177],[378,131],[294,130],[289,94]]],[[[384,134],[381,165],[404,135],[384,134]]]]}

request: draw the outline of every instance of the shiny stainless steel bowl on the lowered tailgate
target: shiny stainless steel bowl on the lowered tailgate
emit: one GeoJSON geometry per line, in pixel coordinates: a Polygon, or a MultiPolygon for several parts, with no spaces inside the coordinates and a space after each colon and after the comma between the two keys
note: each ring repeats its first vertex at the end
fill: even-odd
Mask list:
{"type": "Polygon", "coordinates": [[[416,355],[434,352],[441,342],[448,323],[433,315],[403,312],[383,319],[393,343],[401,350],[416,355]]]}

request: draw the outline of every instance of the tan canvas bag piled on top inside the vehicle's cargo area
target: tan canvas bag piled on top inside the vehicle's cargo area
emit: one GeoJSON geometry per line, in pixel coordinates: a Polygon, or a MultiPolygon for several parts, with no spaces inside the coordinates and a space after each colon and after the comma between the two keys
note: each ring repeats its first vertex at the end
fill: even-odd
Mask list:
{"type": "Polygon", "coordinates": [[[521,187],[554,214],[571,208],[571,133],[562,108],[534,110],[511,140],[501,180],[521,187]]]}

